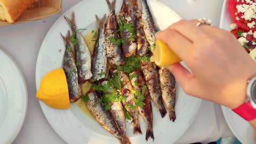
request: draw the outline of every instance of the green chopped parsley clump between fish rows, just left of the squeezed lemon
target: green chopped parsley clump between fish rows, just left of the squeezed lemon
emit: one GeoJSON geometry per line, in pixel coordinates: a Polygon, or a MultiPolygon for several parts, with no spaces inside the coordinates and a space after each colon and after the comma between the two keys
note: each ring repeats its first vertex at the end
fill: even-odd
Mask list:
{"type": "Polygon", "coordinates": [[[133,56],[133,57],[125,58],[125,65],[117,66],[117,69],[124,71],[127,74],[130,74],[135,69],[141,69],[140,60],[150,61],[150,58],[148,58],[147,56],[143,56],[143,57],[134,57],[133,56]]]}

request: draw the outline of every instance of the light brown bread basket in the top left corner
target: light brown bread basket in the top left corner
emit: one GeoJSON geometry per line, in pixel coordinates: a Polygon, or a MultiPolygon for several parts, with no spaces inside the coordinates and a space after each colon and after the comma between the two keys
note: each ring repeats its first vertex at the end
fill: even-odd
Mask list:
{"type": "MultiPolygon", "coordinates": [[[[11,1],[11,0],[10,0],[11,1]]],[[[0,26],[15,25],[27,21],[39,20],[57,14],[62,10],[62,0],[36,0],[20,18],[14,23],[10,24],[7,21],[0,20],[0,26]]]]}

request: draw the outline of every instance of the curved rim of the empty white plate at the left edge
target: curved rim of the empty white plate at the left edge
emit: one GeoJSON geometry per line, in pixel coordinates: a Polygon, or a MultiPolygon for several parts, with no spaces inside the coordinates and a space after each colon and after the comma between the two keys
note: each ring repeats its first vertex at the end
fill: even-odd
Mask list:
{"type": "Polygon", "coordinates": [[[24,85],[24,88],[25,88],[25,96],[24,96],[24,98],[25,98],[25,106],[24,106],[25,109],[24,109],[24,107],[22,109],[22,110],[25,110],[25,111],[24,111],[24,113],[22,113],[22,116],[21,116],[22,118],[18,120],[20,122],[20,125],[18,125],[18,127],[16,127],[16,130],[15,130],[16,132],[12,133],[12,136],[8,140],[9,143],[12,143],[17,138],[18,134],[20,133],[20,130],[21,130],[23,124],[25,123],[25,119],[27,117],[27,111],[28,111],[28,87],[27,87],[26,79],[23,76],[23,73],[22,73],[20,67],[18,66],[18,64],[15,62],[15,60],[2,47],[0,47],[0,51],[2,51],[7,56],[7,58],[10,59],[11,62],[13,62],[15,68],[18,70],[18,74],[20,75],[20,77],[22,79],[22,82],[23,82],[23,85],[24,85]]]}

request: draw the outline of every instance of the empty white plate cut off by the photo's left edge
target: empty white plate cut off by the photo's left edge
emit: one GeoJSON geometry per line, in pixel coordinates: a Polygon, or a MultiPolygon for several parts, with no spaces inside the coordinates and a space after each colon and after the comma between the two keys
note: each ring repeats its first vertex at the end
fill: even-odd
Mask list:
{"type": "Polygon", "coordinates": [[[27,86],[11,57],[0,49],[0,143],[12,143],[27,112],[27,86]]]}

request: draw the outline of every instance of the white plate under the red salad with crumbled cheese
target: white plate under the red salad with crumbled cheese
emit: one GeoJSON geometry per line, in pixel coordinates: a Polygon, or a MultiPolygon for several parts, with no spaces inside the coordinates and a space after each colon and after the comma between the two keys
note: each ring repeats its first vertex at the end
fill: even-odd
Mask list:
{"type": "MultiPolygon", "coordinates": [[[[234,23],[228,12],[228,1],[224,0],[220,20],[220,28],[230,31],[229,25],[234,23]]],[[[222,106],[223,115],[231,131],[242,143],[256,143],[254,130],[243,118],[234,113],[231,109],[222,106]]]]}

